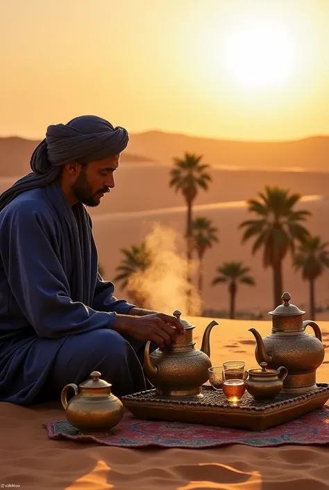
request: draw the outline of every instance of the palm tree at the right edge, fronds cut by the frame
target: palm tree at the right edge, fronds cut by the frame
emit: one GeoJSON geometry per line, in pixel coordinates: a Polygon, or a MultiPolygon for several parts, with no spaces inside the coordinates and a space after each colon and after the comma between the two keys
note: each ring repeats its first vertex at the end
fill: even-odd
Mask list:
{"type": "Polygon", "coordinates": [[[298,247],[294,256],[294,267],[301,269],[302,277],[310,282],[310,317],[315,320],[314,283],[329,267],[329,243],[322,242],[319,236],[310,236],[298,247]]]}

